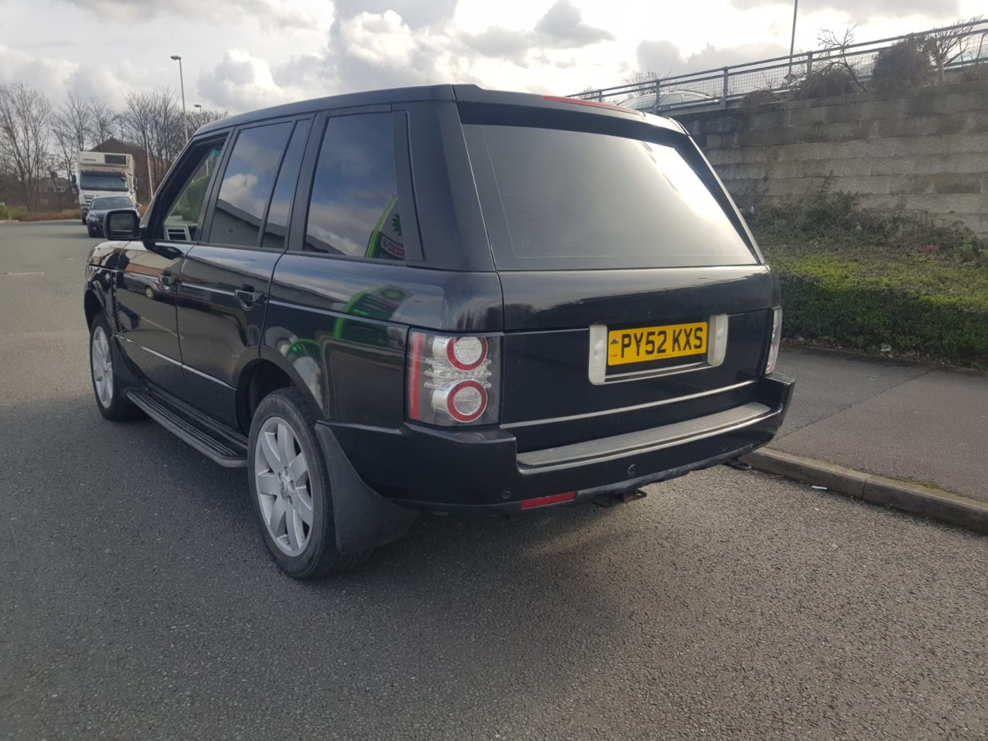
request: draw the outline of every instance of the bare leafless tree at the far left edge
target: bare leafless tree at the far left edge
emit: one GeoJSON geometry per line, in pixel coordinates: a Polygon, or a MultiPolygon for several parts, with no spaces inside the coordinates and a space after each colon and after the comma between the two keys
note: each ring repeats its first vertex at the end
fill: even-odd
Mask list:
{"type": "Polygon", "coordinates": [[[38,203],[48,175],[51,104],[22,82],[0,86],[0,156],[10,164],[24,205],[38,203]]]}

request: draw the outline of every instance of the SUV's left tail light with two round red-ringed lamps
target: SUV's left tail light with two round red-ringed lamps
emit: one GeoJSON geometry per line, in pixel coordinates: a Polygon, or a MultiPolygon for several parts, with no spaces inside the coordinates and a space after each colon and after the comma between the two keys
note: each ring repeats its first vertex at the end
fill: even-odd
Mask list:
{"type": "Polygon", "coordinates": [[[431,425],[498,421],[501,341],[412,331],[408,342],[408,418],[431,425]]]}

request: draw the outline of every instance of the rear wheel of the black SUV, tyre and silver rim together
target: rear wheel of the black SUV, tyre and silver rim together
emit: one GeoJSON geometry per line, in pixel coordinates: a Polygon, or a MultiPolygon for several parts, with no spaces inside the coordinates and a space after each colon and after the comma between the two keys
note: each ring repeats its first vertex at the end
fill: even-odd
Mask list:
{"type": "Polygon", "coordinates": [[[298,391],[283,388],[261,401],[250,429],[248,480],[258,529],[275,562],[295,579],[340,574],[371,554],[336,549],[329,471],[315,419],[298,391]]]}

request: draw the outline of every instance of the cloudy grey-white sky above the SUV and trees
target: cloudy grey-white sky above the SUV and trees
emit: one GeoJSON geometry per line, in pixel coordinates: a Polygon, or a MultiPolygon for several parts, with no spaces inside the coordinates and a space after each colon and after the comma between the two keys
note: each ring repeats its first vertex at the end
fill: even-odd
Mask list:
{"type": "MultiPolygon", "coordinates": [[[[981,6],[981,7],[978,7],[981,6]]],[[[800,0],[796,47],[858,24],[867,41],[945,25],[981,0],[800,0]]],[[[637,69],[691,71],[788,51],[791,0],[0,0],[0,82],[115,107],[178,88],[243,111],[397,85],[567,94],[637,69]]]]}

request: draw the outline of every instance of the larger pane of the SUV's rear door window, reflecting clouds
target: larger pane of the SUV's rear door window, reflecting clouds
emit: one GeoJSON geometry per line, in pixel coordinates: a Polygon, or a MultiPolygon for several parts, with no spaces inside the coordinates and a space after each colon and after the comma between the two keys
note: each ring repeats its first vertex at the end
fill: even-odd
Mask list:
{"type": "Polygon", "coordinates": [[[237,136],[219,186],[209,241],[254,247],[291,124],[247,128],[237,136]]]}

